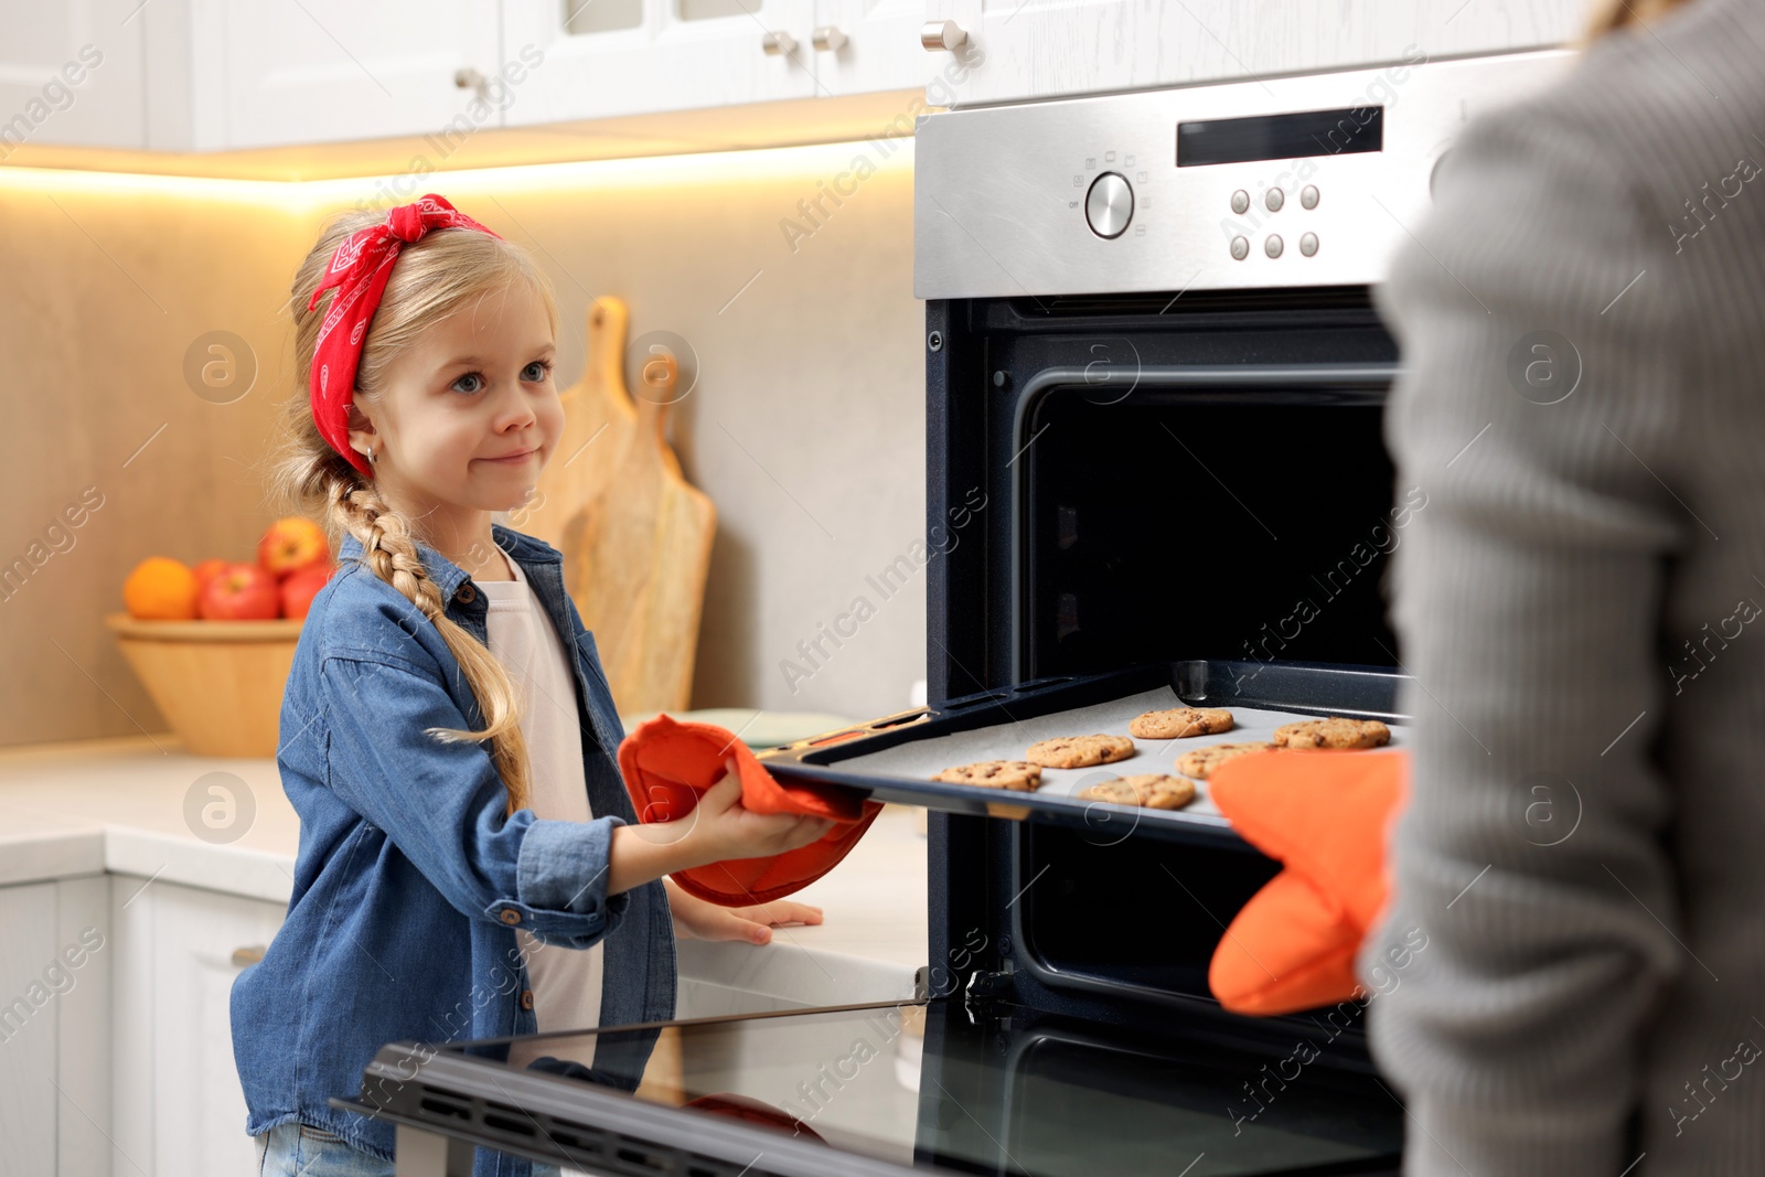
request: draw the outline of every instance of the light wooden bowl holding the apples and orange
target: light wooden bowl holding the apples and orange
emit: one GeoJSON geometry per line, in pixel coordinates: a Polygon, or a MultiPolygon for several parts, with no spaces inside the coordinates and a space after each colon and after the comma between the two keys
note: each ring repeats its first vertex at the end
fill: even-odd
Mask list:
{"type": "Polygon", "coordinates": [[[275,757],[298,618],[104,625],[191,755],[275,757]]]}

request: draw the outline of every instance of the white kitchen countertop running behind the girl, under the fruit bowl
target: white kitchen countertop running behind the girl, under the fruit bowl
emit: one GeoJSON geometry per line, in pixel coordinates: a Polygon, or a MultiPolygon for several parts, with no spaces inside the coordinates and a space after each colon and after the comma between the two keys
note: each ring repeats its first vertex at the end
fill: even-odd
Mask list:
{"type": "MultiPolygon", "coordinates": [[[[298,842],[275,761],[192,757],[175,736],[0,750],[0,886],[111,872],[286,903],[298,842]],[[192,789],[192,810],[208,801],[198,789],[208,773],[229,773],[254,810],[224,843],[198,836],[199,817],[185,821],[192,789]]],[[[927,960],[914,810],[886,806],[845,861],[791,898],[826,921],[777,928],[766,946],[680,944],[680,1016],[913,993],[927,960]]]]}

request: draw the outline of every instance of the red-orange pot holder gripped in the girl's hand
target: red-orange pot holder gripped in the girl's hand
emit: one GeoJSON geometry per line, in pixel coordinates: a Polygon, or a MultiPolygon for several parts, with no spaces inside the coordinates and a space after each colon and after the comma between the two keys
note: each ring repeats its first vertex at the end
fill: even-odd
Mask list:
{"type": "Polygon", "coordinates": [[[620,773],[632,794],[637,821],[667,822],[690,813],[699,805],[699,794],[724,775],[729,755],[736,757],[741,775],[743,806],[755,813],[831,817],[840,824],[819,842],[784,854],[736,858],[674,872],[674,882],[683,891],[711,903],[747,907],[801,891],[838,866],[882,812],[881,801],[861,801],[844,791],[778,783],[729,729],[681,723],[658,715],[639,723],[620,745],[620,773]]]}

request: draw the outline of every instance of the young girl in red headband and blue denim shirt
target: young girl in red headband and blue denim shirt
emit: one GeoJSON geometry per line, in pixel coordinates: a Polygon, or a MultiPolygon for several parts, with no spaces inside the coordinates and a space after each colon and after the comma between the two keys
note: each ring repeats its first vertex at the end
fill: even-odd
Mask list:
{"type": "Polygon", "coordinates": [[[233,986],[233,1050],[261,1173],[390,1175],[394,1126],[327,1103],[379,1046],[669,1020],[676,933],[766,942],[821,912],[662,879],[830,822],[752,813],[729,773],[690,821],[637,824],[563,558],[491,517],[563,434],[558,309],[526,252],[431,194],[335,217],[293,295],[309,388],[277,475],[342,566],[282,701],[300,852],[288,921],[233,986]]]}

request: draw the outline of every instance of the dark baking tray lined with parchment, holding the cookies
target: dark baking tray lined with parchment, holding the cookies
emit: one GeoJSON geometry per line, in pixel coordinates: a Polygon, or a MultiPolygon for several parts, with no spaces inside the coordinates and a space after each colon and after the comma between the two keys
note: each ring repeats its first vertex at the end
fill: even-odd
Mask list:
{"type": "Polygon", "coordinates": [[[1040,821],[1089,831],[1110,842],[1158,836],[1177,842],[1239,843],[1197,782],[1197,798],[1181,810],[1147,810],[1080,801],[1071,796],[1096,780],[1135,773],[1175,773],[1175,759],[1214,743],[1269,739],[1296,720],[1341,715],[1384,720],[1387,748],[1356,755],[1391,755],[1407,741],[1398,713],[1407,676],[1384,667],[1315,662],[1186,660],[1138,665],[1093,676],[1034,679],[1018,686],[914,708],[856,727],[824,732],[759,753],[773,776],[835,785],[877,801],[921,805],[950,813],[1040,821]],[[1227,708],[1237,722],[1228,732],[1186,739],[1140,739],[1135,753],[1093,768],[1045,768],[1036,792],[928,780],[971,761],[1020,761],[1029,745],[1055,736],[1128,734],[1142,711],[1177,706],[1227,708]]]}

